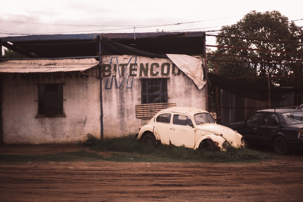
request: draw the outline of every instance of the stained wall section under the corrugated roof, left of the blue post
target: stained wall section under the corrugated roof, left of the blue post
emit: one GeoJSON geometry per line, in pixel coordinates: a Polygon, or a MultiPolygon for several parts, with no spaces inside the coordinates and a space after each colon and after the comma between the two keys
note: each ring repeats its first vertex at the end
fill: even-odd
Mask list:
{"type": "MultiPolygon", "coordinates": [[[[85,141],[86,134],[100,137],[100,80],[71,73],[5,74],[3,81],[3,141],[5,144],[66,144],[85,141]],[[37,84],[64,83],[66,117],[35,118],[37,84]]],[[[79,73],[77,73],[79,74],[79,73]]],[[[3,77],[2,77],[3,78],[3,77]]]]}

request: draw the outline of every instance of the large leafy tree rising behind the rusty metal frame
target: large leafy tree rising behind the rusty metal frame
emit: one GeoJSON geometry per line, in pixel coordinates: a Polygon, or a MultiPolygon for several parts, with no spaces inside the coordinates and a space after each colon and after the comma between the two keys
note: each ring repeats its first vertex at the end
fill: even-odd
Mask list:
{"type": "MultiPolygon", "coordinates": [[[[251,11],[236,24],[222,27],[216,42],[229,48],[218,48],[214,51],[217,55],[208,59],[220,60],[218,75],[224,77],[280,77],[295,75],[295,71],[302,77],[302,39],[302,27],[289,22],[280,12],[251,11]]],[[[208,67],[214,68],[214,63],[209,62],[208,67]]],[[[268,80],[245,82],[267,85],[268,80]]],[[[271,80],[272,86],[293,84],[294,79],[271,80]]]]}

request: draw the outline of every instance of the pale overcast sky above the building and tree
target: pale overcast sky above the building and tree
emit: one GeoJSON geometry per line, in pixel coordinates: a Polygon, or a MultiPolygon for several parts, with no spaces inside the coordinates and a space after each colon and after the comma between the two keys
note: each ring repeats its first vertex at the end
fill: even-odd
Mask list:
{"type": "MultiPolygon", "coordinates": [[[[237,23],[245,14],[279,11],[303,26],[300,0],[2,0],[0,37],[16,34],[206,31],[237,23]]],[[[215,45],[214,37],[206,44],[215,45]]]]}

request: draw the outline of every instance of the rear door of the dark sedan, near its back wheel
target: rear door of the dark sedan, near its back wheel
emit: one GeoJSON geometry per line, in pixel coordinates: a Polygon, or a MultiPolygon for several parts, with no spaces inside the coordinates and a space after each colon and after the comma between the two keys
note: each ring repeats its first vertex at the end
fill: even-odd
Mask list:
{"type": "Polygon", "coordinates": [[[261,145],[271,145],[271,138],[278,133],[280,120],[275,113],[265,113],[261,125],[256,130],[258,143],[261,145]]]}

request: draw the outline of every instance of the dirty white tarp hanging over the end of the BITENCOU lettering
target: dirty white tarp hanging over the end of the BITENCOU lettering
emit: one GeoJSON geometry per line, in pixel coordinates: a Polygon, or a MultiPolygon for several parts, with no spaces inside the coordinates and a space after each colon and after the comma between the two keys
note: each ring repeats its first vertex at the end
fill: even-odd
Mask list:
{"type": "Polygon", "coordinates": [[[203,60],[190,55],[166,54],[167,57],[191,80],[194,81],[199,90],[203,88],[207,79],[203,80],[203,60]]]}

